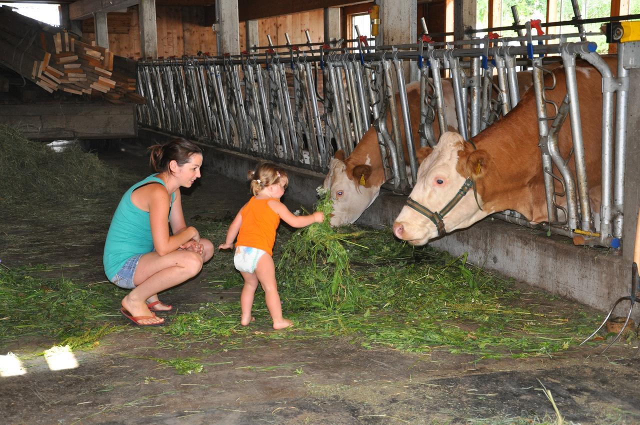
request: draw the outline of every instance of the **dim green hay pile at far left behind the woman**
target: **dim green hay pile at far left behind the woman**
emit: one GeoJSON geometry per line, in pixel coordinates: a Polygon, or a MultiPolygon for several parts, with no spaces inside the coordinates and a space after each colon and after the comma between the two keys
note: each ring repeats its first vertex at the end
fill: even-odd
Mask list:
{"type": "MultiPolygon", "coordinates": [[[[68,205],[113,190],[114,170],[79,147],[54,152],[17,129],[0,125],[0,202],[3,212],[68,205]]],[[[120,188],[118,188],[120,191],[120,188]]]]}

